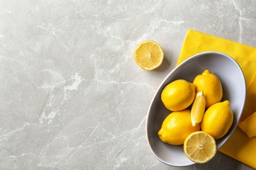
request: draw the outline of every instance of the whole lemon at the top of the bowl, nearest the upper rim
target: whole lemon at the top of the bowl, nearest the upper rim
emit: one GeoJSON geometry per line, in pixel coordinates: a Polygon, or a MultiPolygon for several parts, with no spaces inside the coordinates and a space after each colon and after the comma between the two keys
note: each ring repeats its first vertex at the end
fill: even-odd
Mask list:
{"type": "Polygon", "coordinates": [[[194,78],[193,84],[196,85],[196,92],[203,90],[206,99],[205,106],[208,108],[211,105],[221,101],[223,97],[223,87],[221,80],[216,75],[213,75],[208,69],[203,71],[202,75],[194,78]]]}

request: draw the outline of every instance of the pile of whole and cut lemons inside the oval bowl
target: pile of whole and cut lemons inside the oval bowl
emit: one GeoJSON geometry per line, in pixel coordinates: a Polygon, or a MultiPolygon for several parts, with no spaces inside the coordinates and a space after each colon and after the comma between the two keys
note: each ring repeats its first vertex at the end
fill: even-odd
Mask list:
{"type": "Polygon", "coordinates": [[[192,83],[180,79],[167,84],[161,101],[173,112],[158,131],[161,141],[184,144],[186,156],[196,163],[211,160],[217,152],[215,139],[223,137],[233,122],[230,103],[221,102],[222,97],[221,80],[208,69],[192,83]]]}

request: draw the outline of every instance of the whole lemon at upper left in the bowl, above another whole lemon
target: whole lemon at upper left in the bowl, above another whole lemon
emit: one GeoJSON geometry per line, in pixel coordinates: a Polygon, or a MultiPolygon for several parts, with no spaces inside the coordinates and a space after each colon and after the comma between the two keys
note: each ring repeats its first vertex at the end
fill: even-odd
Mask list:
{"type": "Polygon", "coordinates": [[[180,111],[189,107],[196,96],[196,86],[186,80],[175,80],[165,86],[161,92],[163,105],[171,111],[180,111]]]}

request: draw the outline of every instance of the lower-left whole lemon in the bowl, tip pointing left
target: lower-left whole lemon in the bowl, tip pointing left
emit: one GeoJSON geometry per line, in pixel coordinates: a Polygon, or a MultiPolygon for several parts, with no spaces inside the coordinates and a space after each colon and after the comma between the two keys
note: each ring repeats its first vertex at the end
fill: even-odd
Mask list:
{"type": "Polygon", "coordinates": [[[169,114],[158,131],[161,141],[175,145],[183,144],[190,133],[200,130],[200,124],[192,126],[190,112],[186,109],[169,114]]]}

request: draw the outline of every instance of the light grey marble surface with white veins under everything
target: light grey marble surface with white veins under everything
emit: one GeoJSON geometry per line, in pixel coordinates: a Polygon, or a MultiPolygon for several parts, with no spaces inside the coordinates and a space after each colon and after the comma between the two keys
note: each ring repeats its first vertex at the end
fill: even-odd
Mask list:
{"type": "Polygon", "coordinates": [[[165,165],[144,127],[186,31],[256,46],[255,1],[0,2],[0,169],[251,169],[221,152],[165,165]],[[154,71],[133,59],[146,39],[165,52],[154,71]]]}

